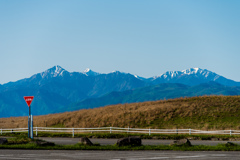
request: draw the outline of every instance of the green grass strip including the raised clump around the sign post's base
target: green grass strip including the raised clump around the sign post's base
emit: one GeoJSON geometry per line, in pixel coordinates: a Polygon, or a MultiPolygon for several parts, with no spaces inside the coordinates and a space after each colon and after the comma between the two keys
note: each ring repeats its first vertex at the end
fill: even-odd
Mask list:
{"type": "Polygon", "coordinates": [[[115,145],[55,145],[42,140],[32,140],[27,137],[9,138],[7,144],[0,145],[0,149],[42,149],[42,150],[176,150],[176,151],[240,151],[240,145],[234,143],[206,145],[141,145],[141,146],[118,146],[115,145]],[[40,141],[40,142],[39,142],[40,141]]]}

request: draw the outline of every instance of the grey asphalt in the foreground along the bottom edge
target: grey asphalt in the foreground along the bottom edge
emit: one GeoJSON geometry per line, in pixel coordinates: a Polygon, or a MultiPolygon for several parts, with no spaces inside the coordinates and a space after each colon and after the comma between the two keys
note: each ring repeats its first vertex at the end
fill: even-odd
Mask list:
{"type": "Polygon", "coordinates": [[[83,151],[0,150],[0,160],[239,160],[239,152],[222,151],[83,151]]]}

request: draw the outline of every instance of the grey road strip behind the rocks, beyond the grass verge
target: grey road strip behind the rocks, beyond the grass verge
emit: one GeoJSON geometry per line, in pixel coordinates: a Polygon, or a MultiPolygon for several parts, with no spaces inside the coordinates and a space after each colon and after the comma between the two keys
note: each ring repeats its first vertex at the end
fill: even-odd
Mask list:
{"type": "MultiPolygon", "coordinates": [[[[49,137],[39,137],[39,139],[46,140],[48,142],[54,142],[55,144],[76,144],[78,143],[79,138],[49,138],[49,137]]],[[[99,143],[101,145],[113,145],[117,143],[117,139],[91,139],[93,143],[99,143]]],[[[227,142],[232,142],[240,145],[240,141],[201,141],[201,140],[190,140],[192,145],[210,145],[214,146],[219,143],[224,144],[227,142]]],[[[143,145],[169,145],[173,140],[157,140],[157,139],[142,139],[143,145]]]]}

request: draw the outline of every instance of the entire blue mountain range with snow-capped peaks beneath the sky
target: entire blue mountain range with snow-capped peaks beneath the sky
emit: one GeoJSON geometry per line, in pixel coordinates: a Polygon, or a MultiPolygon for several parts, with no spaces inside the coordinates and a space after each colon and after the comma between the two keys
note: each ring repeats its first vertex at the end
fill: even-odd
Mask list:
{"type": "Polygon", "coordinates": [[[240,82],[200,68],[142,78],[119,71],[68,72],[54,66],[42,73],[0,85],[0,117],[26,116],[23,96],[35,96],[33,115],[199,95],[239,95],[240,82]]]}

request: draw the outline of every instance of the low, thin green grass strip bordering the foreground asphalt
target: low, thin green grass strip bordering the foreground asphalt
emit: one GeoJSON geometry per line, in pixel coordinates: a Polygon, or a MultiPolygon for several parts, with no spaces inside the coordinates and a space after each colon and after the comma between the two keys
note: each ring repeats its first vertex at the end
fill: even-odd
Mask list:
{"type": "Polygon", "coordinates": [[[169,145],[142,145],[142,146],[117,146],[117,145],[93,145],[86,146],[75,145],[55,145],[39,146],[34,143],[0,145],[0,149],[41,149],[41,150],[174,150],[174,151],[240,151],[240,145],[226,146],[219,144],[217,146],[169,146],[169,145]]]}

